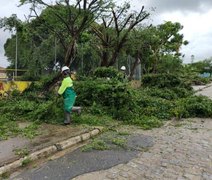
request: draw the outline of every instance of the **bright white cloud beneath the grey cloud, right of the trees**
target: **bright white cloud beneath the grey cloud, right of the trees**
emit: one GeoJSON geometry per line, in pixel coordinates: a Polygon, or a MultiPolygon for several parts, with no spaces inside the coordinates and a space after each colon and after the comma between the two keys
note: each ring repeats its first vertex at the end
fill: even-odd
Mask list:
{"type": "Polygon", "coordinates": [[[181,11],[173,13],[163,13],[161,19],[180,22],[184,28],[182,34],[189,41],[189,44],[182,47],[185,54],[184,62],[191,61],[191,55],[195,56],[195,60],[203,60],[212,56],[212,10],[205,13],[183,13],[181,11]]]}

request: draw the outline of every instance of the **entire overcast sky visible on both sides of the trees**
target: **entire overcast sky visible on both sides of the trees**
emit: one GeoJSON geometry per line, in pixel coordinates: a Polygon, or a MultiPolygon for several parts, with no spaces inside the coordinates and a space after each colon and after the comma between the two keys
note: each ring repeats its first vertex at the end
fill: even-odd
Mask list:
{"type": "MultiPolygon", "coordinates": [[[[120,2],[122,0],[118,0],[120,2]]],[[[28,15],[28,7],[17,7],[18,0],[0,0],[0,17],[17,14],[24,20],[28,15]]],[[[180,22],[184,28],[182,33],[189,45],[182,47],[185,54],[184,63],[212,57],[212,0],[131,0],[132,7],[146,10],[155,8],[151,15],[151,23],[161,24],[165,21],[180,22]]],[[[0,30],[0,66],[6,67],[8,62],[4,56],[4,43],[11,34],[0,30]]]]}

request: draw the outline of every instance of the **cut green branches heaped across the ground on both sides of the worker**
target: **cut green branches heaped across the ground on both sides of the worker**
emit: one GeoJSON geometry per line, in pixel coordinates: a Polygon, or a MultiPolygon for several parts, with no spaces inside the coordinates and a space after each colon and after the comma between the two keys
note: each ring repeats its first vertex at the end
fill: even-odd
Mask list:
{"type": "MultiPolygon", "coordinates": [[[[99,75],[100,72],[97,76],[103,77],[99,75]]],[[[17,120],[63,122],[63,99],[54,98],[53,93],[42,94],[40,90],[45,84],[43,82],[35,82],[31,89],[20,96],[0,100],[0,138],[27,134],[27,129],[21,131],[16,127],[17,120]],[[10,122],[8,124],[11,127],[6,122],[10,122]]],[[[74,114],[74,122],[104,126],[116,119],[150,129],[161,126],[164,120],[172,117],[212,117],[212,101],[194,96],[189,83],[182,77],[170,74],[147,75],[143,78],[143,85],[135,90],[117,78],[85,78],[75,82],[75,105],[83,106],[83,114],[74,114]]],[[[36,135],[33,127],[29,127],[29,136],[33,137],[33,132],[36,135]]]]}

